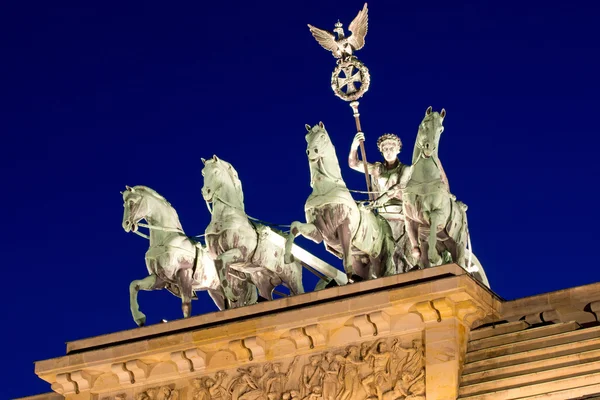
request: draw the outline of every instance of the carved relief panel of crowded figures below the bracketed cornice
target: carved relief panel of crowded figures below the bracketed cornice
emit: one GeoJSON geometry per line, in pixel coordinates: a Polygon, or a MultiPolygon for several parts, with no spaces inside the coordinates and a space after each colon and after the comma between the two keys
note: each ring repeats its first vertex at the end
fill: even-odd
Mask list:
{"type": "Polygon", "coordinates": [[[219,371],[190,386],[189,400],[425,400],[425,356],[420,340],[382,338],[219,371]]]}

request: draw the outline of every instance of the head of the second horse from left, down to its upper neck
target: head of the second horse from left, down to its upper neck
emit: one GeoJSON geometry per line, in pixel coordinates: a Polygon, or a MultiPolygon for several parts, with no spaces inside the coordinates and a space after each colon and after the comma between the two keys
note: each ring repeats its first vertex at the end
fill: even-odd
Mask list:
{"type": "Polygon", "coordinates": [[[204,168],[202,168],[202,176],[204,177],[204,186],[202,186],[202,197],[205,201],[213,201],[215,193],[222,187],[231,189],[239,202],[243,204],[244,194],[242,191],[242,182],[240,181],[237,171],[227,161],[219,159],[216,155],[205,160],[202,159],[204,168]]]}

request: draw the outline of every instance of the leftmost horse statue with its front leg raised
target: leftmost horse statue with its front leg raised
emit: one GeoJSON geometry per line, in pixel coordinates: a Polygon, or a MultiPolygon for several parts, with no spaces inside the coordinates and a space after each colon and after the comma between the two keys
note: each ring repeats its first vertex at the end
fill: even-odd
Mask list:
{"type": "Polygon", "coordinates": [[[256,303],[256,288],[247,280],[229,279],[227,287],[238,301],[230,303],[225,298],[220,274],[207,249],[186,236],[177,212],[163,196],[146,186],[127,186],[123,207],[125,232],[138,233],[150,241],[145,257],[149,275],[129,285],[131,314],[138,325],[146,322],[137,302],[140,290],[166,288],[181,297],[184,317],[191,314],[191,300],[197,290],[207,290],[220,310],[256,303]],[[148,224],[140,224],[141,220],[148,224]],[[149,237],[138,232],[140,225],[150,229],[149,237]]]}

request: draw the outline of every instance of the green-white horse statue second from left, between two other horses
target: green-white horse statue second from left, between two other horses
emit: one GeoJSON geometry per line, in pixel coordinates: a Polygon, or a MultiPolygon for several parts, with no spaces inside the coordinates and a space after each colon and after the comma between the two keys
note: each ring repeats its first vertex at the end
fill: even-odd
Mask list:
{"type": "Polygon", "coordinates": [[[302,264],[284,262],[283,248],[269,239],[270,228],[249,221],[244,211],[242,183],[233,166],[217,156],[202,162],[202,196],[207,204],[212,203],[206,244],[220,273],[225,296],[232,302],[238,301],[228,286],[228,276],[239,273],[248,274],[261,297],[268,300],[273,299],[273,289],[281,284],[292,295],[304,293],[302,264]]]}

